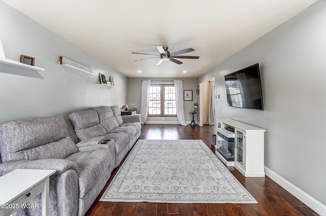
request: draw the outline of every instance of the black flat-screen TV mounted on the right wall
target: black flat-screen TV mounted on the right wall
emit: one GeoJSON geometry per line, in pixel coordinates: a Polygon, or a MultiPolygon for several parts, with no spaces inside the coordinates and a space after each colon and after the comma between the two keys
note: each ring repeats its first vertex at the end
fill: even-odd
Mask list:
{"type": "Polygon", "coordinates": [[[264,110],[259,65],[225,75],[228,106],[264,110]]]}

